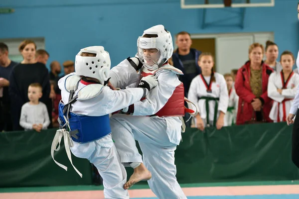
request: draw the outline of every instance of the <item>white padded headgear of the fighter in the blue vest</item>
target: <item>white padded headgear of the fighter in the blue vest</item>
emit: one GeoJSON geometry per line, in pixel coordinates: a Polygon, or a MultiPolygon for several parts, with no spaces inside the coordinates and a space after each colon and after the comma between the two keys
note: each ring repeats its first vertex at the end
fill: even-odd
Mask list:
{"type": "Polygon", "coordinates": [[[76,55],[75,71],[78,76],[95,78],[102,85],[109,78],[111,60],[103,46],[90,46],[80,50],[76,55]],[[95,57],[82,57],[81,53],[94,53],[95,57]]]}

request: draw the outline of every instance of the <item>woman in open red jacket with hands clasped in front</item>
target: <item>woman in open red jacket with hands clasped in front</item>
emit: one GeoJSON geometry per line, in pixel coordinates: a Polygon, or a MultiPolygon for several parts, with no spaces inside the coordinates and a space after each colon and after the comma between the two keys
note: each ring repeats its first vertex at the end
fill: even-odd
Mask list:
{"type": "Polygon", "coordinates": [[[249,61],[237,73],[236,93],[239,96],[237,125],[272,122],[269,113],[272,100],[268,97],[268,79],[273,69],[263,60],[264,47],[253,43],[249,47],[249,61]]]}

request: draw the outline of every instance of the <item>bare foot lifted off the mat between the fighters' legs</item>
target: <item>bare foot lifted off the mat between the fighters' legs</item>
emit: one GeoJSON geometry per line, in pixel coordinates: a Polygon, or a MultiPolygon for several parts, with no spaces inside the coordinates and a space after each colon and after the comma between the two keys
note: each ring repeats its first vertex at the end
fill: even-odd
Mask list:
{"type": "Polygon", "coordinates": [[[148,181],[151,179],[151,173],[145,167],[143,163],[141,163],[137,168],[134,169],[134,173],[130,177],[129,181],[124,185],[124,189],[127,190],[136,183],[140,181],[148,181]]]}

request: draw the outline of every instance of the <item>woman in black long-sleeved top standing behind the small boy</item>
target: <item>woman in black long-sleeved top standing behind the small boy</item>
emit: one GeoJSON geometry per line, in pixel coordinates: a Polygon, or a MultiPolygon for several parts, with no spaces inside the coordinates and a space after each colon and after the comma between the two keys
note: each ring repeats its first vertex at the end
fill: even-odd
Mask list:
{"type": "MultiPolygon", "coordinates": [[[[9,96],[11,99],[11,117],[13,130],[21,130],[19,125],[21,107],[29,101],[27,91],[32,83],[39,83],[42,86],[42,97],[40,101],[46,104],[50,121],[52,119],[50,95],[49,72],[46,66],[36,62],[35,52],[36,44],[34,41],[26,39],[19,45],[19,52],[23,57],[23,61],[16,65],[9,77],[9,96]]],[[[50,124],[49,127],[52,125],[50,124]]]]}

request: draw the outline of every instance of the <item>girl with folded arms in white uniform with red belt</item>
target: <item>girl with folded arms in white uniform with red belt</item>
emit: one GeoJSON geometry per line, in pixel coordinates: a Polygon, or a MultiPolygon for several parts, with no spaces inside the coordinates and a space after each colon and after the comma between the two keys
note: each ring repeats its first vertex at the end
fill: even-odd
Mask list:
{"type": "Polygon", "coordinates": [[[281,55],[281,64],[283,70],[272,73],[268,83],[268,96],[274,100],[269,117],[274,122],[287,121],[299,85],[299,74],[292,70],[295,64],[293,53],[284,51],[281,55]]]}

